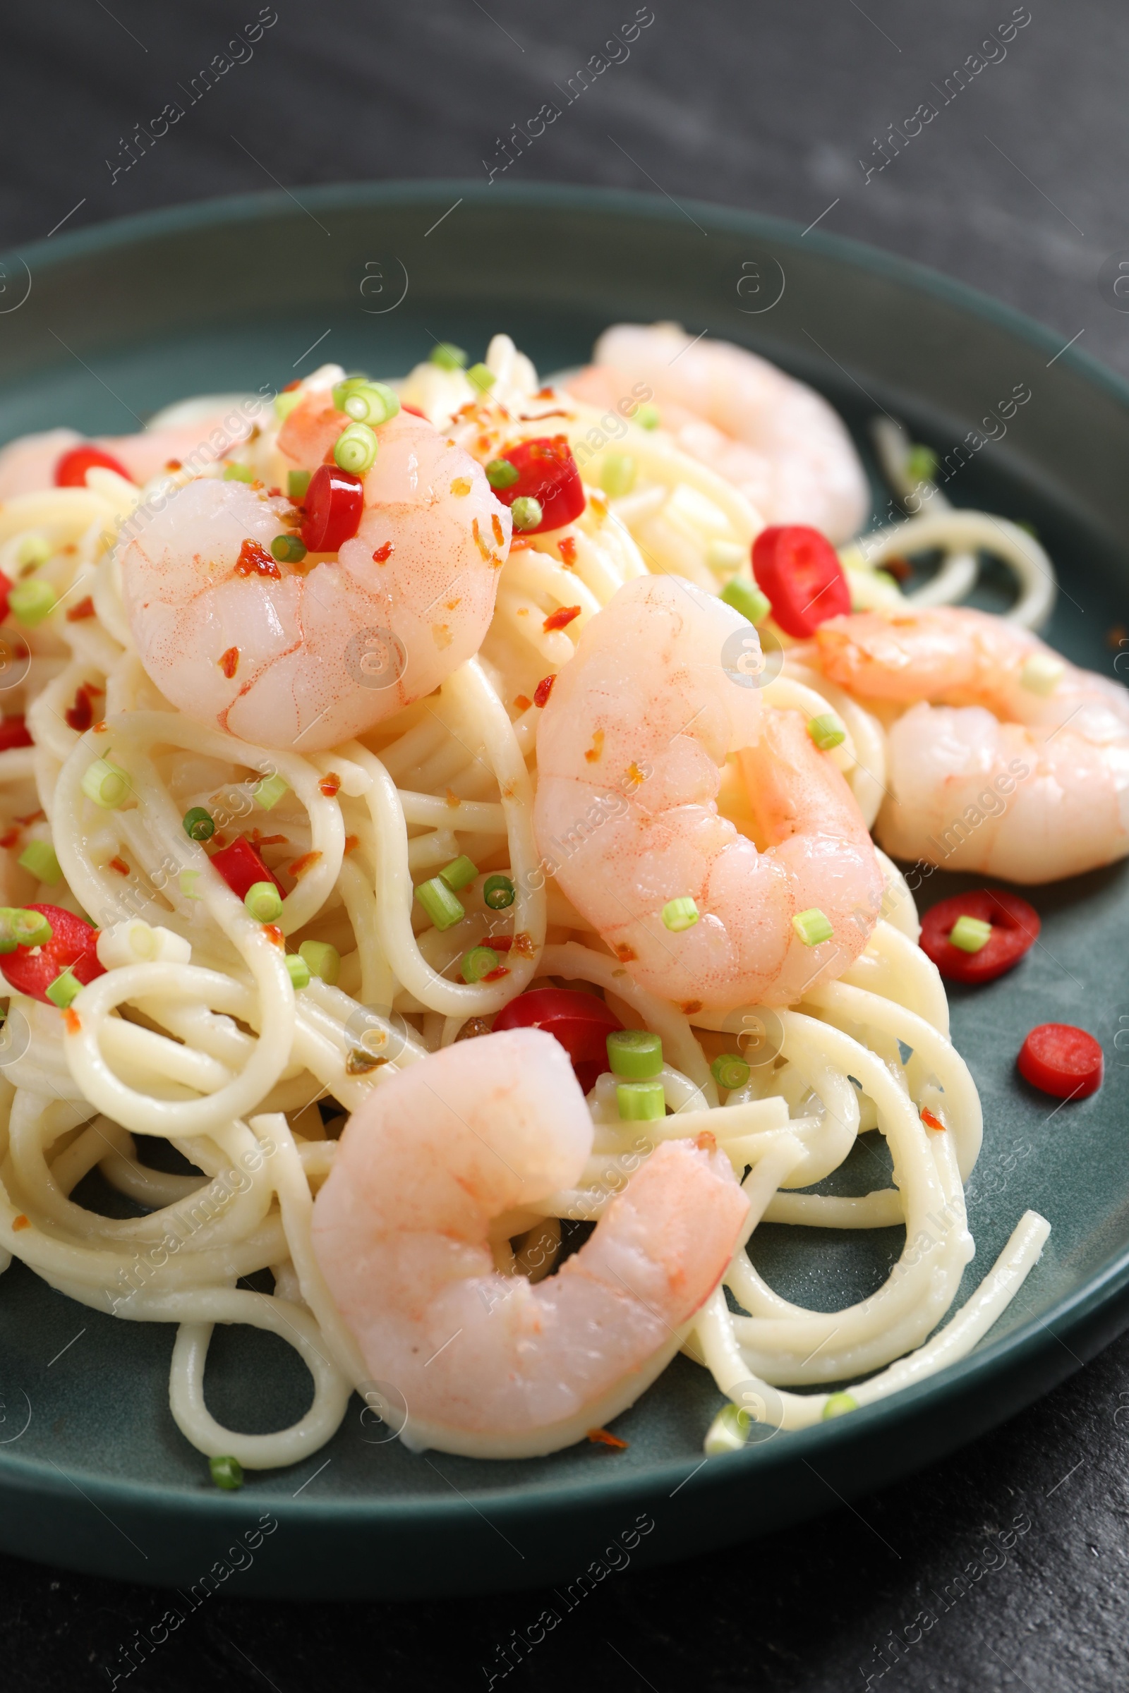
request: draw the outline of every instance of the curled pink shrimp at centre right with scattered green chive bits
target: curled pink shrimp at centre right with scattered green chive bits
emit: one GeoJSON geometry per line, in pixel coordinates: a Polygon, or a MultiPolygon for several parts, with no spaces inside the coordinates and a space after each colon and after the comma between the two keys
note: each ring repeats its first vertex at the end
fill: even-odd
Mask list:
{"type": "MultiPolygon", "coordinates": [[[[797,1001],[867,943],[882,870],[858,806],[796,711],[741,686],[752,625],[674,576],[626,582],[586,626],[537,735],[538,852],[643,987],[686,1011],[797,1001]],[[718,814],[738,762],[758,852],[718,814]],[[672,931],[670,901],[697,919],[672,931]],[[823,913],[833,938],[807,945],[823,913]]],[[[677,919],[675,919],[677,921],[677,919]]]]}

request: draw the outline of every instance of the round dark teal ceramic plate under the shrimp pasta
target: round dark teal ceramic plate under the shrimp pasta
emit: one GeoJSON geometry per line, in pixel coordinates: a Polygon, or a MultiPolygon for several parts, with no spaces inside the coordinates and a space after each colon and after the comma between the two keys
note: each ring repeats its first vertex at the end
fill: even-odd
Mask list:
{"type": "MultiPolygon", "coordinates": [[[[1129,625],[1126,384],[1004,306],[819,230],[591,190],[361,186],[59,235],[8,257],[2,281],[0,438],[54,423],[129,432],[183,394],[281,386],[327,357],[396,372],[435,339],[481,356],[496,330],[552,371],[618,318],[679,318],[768,354],[821,388],[860,442],[885,410],[945,454],[1026,383],[1007,437],[946,491],[1038,525],[1063,582],[1051,640],[1071,659],[1110,674],[1109,630],[1129,625]]],[[[926,885],[938,899],[958,884],[926,885]]],[[[1033,897],[1043,945],[1012,975],[951,995],[985,1106],[965,1293],[1024,1207],[1053,1233],[963,1363],[708,1463],[719,1398],[686,1359],[616,1424],[630,1441],[618,1454],[413,1456],[381,1442],[354,1400],[306,1464],[223,1495],[169,1417],[169,1329],[102,1317],[15,1265],[0,1280],[0,1547],[198,1593],[208,1571],[242,1595],[567,1586],[613,1537],[638,1536],[638,1563],[765,1534],[1000,1422],[1129,1314],[1127,872],[1033,897]],[[1051,1019],[1092,1029],[1107,1062],[1102,1090],[1058,1112],[1014,1072],[1026,1031],[1051,1019]]],[[[757,1260],[784,1293],[834,1309],[873,1288],[899,1244],[900,1231],[763,1227],[757,1260]]],[[[218,1331],[208,1397],[223,1422],[264,1429],[267,1405],[300,1415],[305,1371],[269,1336],[218,1331]]]]}

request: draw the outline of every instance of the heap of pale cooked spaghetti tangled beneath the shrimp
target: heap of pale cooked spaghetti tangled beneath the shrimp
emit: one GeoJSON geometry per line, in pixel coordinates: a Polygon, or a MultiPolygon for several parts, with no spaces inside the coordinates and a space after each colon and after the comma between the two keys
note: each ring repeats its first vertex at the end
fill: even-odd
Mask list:
{"type": "MultiPolygon", "coordinates": [[[[310,1244],[313,1195],[347,1114],[396,1068],[486,1033],[533,985],[587,987],[626,1026],[662,1036],[670,1114],[645,1126],[648,1144],[708,1126],[745,1177],[755,1219],[906,1227],[887,1282],[833,1314],[782,1299],[745,1251],[736,1255],[728,1297],[724,1288],[713,1295],[686,1351],[762,1422],[799,1427],[824,1415],[828,1383],[855,1383],[851,1395],[865,1403],[961,1356],[999,1317],[1048,1233],[1041,1217],[1021,1219],[973,1299],[929,1339],[973,1255],[963,1183],[982,1116],[948,1038],[939,979],[916,946],[912,896],[889,860],[884,918],[838,982],[787,1009],[694,1017],[640,989],[547,874],[531,826],[538,682],[569,662],[589,618],[625,581],[674,571],[718,591],[719,567],[731,572],[735,559],[748,559],[760,520],[660,428],[636,422],[638,394],[596,415],[540,386],[508,337],[496,337],[486,362],[489,393],[428,364],[399,384],[401,396],[482,462],[516,438],[565,433],[586,510],[562,530],[515,540],[482,648],[438,692],[327,752],[301,757],[207,728],[174,711],[140,667],[115,543],[122,525],[144,520],[147,503],[188,469],[142,489],[93,469],[85,488],[0,506],[0,569],[15,579],[34,560],[30,571],[56,599],[34,630],[8,623],[3,631],[5,713],[22,711],[32,738],[0,752],[3,902],[49,901],[85,914],[103,931],[108,965],[64,1011],[7,995],[2,1263],[15,1256],[117,1319],[173,1324],[178,1427],[201,1453],[232,1454],[249,1468],[315,1451],[354,1390],[388,1410],[310,1244]],[[620,496],[603,486],[613,452],[628,452],[635,467],[631,491],[620,496]],[[581,609],[553,628],[552,613],[565,606],[581,609]],[[96,757],[129,774],[130,796],[115,809],[83,792],[96,757]],[[262,784],[274,777],[284,792],[266,811],[262,784]],[[205,846],[188,838],[183,818],[195,806],[217,819],[212,846],[240,833],[257,846],[286,887],[278,919],[286,948],[335,948],[333,985],[315,975],[295,990],[279,950],[210,867],[205,846]],[[20,865],[32,841],[51,846],[58,880],[41,884],[20,865]],[[460,855],[481,874],[460,894],[465,918],[440,931],[413,887],[460,855]],[[482,899],[482,879],[498,872],[516,889],[501,913],[482,899]],[[467,948],[499,936],[509,941],[506,977],[457,980],[467,948]],[[750,1080],[723,1104],[711,1058],[735,1040],[750,1080]],[[945,1133],[929,1129],[922,1111],[945,1133]],[[892,1153],[894,1185],[884,1180],[856,1199],[811,1192],[875,1128],[892,1153]],[[154,1141],[171,1143],[188,1173],[164,1173],[142,1156],[154,1141]],[[134,1202],[134,1216],[115,1219],[73,1197],[95,1168],[134,1202]],[[271,1293],[247,1285],[264,1270],[271,1293]],[[247,1434],[212,1417],[203,1383],[217,1322],[267,1329],[298,1351],[313,1400],[296,1424],[247,1434]]],[[[340,374],[322,369],[303,386],[340,374]]],[[[191,415],[176,411],[179,422],[191,415]]],[[[274,481],[276,432],[271,405],[261,403],[256,427],[215,450],[200,474],[240,464],[274,481]]],[[[953,513],[948,530],[945,515],[919,520],[933,525],[921,543],[950,554],[950,589],[965,581],[960,560],[985,535],[1002,545],[997,520],[972,518],[953,513]]],[[[1026,540],[1004,537],[1029,562],[1026,540]]],[[[880,569],[892,545],[878,537],[846,555],[856,604],[899,596],[880,569]]],[[[906,525],[899,545],[907,545],[906,525]]],[[[834,757],[870,823],[884,780],[882,725],[787,664],[765,698],[806,716],[840,714],[848,733],[834,757]]],[[[564,1224],[598,1222],[638,1166],[640,1124],[620,1122],[608,1082],[591,1095],[594,1148],[582,1183],[550,1195],[521,1219],[520,1234],[493,1243],[504,1273],[548,1273],[564,1224]]]]}

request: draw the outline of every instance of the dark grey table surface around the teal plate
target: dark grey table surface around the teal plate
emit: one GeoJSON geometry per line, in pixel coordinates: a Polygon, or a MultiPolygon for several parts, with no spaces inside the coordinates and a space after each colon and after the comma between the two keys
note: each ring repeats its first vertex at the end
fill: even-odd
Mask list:
{"type": "MultiPolygon", "coordinates": [[[[0,245],[274,185],[486,179],[511,124],[635,12],[630,0],[10,7],[0,245]],[[130,154],[134,127],[256,17],[276,22],[232,49],[242,63],[168,137],[130,154]]],[[[653,0],[630,58],[506,179],[819,218],[1000,296],[1129,374],[1129,315],[1097,284],[1104,257],[1129,245],[1124,5],[1031,0],[1014,41],[983,49],[994,63],[877,169],[889,125],[1012,15],[1027,7],[653,0]]],[[[506,1681],[547,1693],[1124,1688],[1127,1454],[1122,1337],[1043,1403],[856,1510],[609,1576],[506,1681]],[[1007,1546],[997,1532],[1016,1517],[1031,1527],[1007,1546]]],[[[144,1588],[0,1559],[0,1688],[112,1686],[118,1646],[159,1608],[144,1588]]],[[[538,1610],[535,1593],[308,1608],[217,1596],[118,1685],[371,1693],[484,1688],[496,1674],[501,1686],[498,1647],[538,1610]]]]}

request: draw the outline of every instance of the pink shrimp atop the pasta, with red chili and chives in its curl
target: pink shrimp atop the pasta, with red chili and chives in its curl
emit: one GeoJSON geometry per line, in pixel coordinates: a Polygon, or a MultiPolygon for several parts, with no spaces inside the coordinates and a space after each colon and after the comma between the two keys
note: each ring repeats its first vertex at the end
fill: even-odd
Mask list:
{"type": "MultiPolygon", "coordinates": [[[[337,418],[340,433],[349,418],[337,418]]],[[[377,440],[361,528],[337,554],[273,562],[289,501],[207,477],[122,549],[140,662],[181,711],[317,752],[430,694],[477,652],[509,511],[421,418],[401,411],[377,440]]]]}

